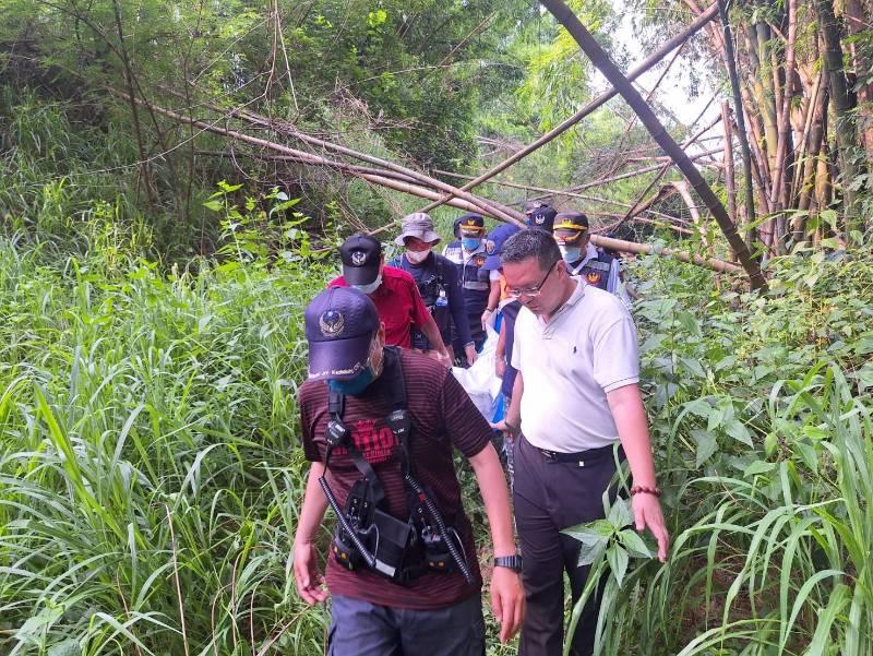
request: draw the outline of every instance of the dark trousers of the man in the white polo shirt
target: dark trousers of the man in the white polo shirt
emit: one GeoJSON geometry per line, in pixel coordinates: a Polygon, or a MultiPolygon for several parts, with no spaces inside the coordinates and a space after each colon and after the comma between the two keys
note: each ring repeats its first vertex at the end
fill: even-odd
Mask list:
{"type": "MultiPolygon", "coordinates": [[[[582,596],[589,566],[577,566],[579,542],[561,534],[584,522],[603,517],[603,491],[615,474],[612,448],[590,452],[584,466],[559,463],[534,448],[524,437],[515,444],[513,503],[524,558],[527,601],[519,656],[560,656],[563,642],[564,572],[570,577],[573,603],[582,596]]],[[[612,494],[614,498],[614,493],[612,494]]],[[[599,594],[588,598],[571,654],[594,652],[599,594]]]]}

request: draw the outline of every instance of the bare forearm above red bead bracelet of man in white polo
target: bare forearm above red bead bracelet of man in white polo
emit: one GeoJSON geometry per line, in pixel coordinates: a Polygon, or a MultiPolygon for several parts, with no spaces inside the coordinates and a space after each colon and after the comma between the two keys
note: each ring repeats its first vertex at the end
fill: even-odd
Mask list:
{"type": "Polygon", "coordinates": [[[655,487],[655,461],[639,386],[633,384],[612,390],[607,393],[607,402],[631,466],[634,485],[655,487]]]}

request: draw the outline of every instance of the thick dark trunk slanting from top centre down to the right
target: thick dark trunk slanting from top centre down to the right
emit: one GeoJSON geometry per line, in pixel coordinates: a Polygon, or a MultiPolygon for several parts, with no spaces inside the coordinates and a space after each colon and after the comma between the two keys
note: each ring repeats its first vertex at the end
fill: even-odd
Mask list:
{"type": "Polygon", "coordinates": [[[643,98],[639,96],[636,88],[634,88],[633,84],[619,71],[600,45],[562,0],[540,0],[540,2],[552,13],[558,22],[566,28],[570,35],[576,40],[579,48],[582,48],[583,52],[591,60],[591,63],[597,67],[637,116],[639,116],[639,120],[649,131],[653,139],[658,142],[665,152],[675,162],[682,175],[685,176],[685,179],[697,192],[697,195],[703,200],[706,207],[713,213],[730,248],[737,254],[737,259],[749,275],[752,287],[754,289],[765,289],[767,287],[767,282],[761,272],[761,266],[758,266],[758,263],[752,258],[751,252],[745,247],[745,242],[737,232],[737,227],[730,220],[725,206],[718,198],[716,198],[716,194],[713,193],[706,180],[703,179],[703,176],[694,166],[694,163],[691,162],[679,144],[667,133],[649,106],[643,102],[643,98]]]}

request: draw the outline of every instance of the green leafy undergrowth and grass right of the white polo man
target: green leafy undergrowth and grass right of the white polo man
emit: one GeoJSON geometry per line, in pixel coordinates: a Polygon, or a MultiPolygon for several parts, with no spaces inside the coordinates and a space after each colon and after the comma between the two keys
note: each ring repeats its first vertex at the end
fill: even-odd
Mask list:
{"type": "Polygon", "coordinates": [[[869,255],[777,262],[757,299],[639,270],[673,544],[625,575],[621,540],[599,538],[601,654],[873,654],[869,255]]]}

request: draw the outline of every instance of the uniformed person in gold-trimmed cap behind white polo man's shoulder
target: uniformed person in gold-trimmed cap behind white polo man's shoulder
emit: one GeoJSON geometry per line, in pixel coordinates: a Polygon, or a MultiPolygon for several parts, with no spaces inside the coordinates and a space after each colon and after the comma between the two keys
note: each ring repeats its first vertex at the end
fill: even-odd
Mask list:
{"type": "Polygon", "coordinates": [[[631,306],[621,282],[619,259],[591,243],[587,216],[582,212],[559,212],[553,234],[570,275],[579,276],[586,284],[614,294],[631,306]]]}

